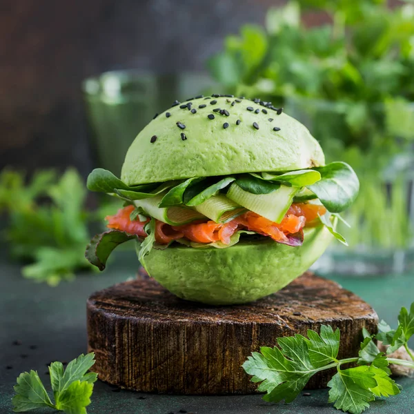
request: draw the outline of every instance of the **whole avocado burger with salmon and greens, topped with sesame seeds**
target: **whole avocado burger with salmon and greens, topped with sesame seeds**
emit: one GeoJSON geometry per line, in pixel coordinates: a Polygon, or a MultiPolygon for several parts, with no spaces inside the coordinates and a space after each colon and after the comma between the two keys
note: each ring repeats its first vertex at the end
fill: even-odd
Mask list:
{"type": "Polygon", "coordinates": [[[88,188],[124,200],[93,237],[88,260],[103,270],[135,240],[148,274],[178,297],[242,304],[304,273],[333,237],[359,181],[325,165],[317,140],[260,99],[233,95],[175,101],[132,142],[121,179],[97,168],[88,188]]]}

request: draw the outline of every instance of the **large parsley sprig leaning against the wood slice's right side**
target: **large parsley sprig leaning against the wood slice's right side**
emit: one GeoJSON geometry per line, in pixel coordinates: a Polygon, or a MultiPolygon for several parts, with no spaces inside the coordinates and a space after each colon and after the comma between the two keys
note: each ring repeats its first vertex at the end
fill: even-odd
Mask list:
{"type": "Polygon", "coordinates": [[[331,326],[321,326],[320,333],[308,330],[308,337],[296,334],[280,337],[274,348],[263,346],[244,362],[246,373],[253,375],[251,381],[259,383],[258,391],[266,392],[268,402],[292,402],[315,373],[336,368],[337,372],[328,382],[329,399],[335,408],[346,413],[360,414],[377,397],[389,397],[400,393],[400,388],[391,379],[389,364],[408,366],[414,369],[413,353],[408,340],[414,335],[414,302],[408,312],[402,308],[397,329],[391,329],[384,321],[378,325],[377,335],[364,328],[358,357],[337,359],[340,332],[331,326]],[[388,345],[382,353],[375,344],[379,339],[388,345]],[[413,361],[404,361],[389,356],[404,346],[413,361]],[[349,367],[349,364],[354,366],[349,367]],[[356,365],[356,366],[355,366],[356,365]]]}

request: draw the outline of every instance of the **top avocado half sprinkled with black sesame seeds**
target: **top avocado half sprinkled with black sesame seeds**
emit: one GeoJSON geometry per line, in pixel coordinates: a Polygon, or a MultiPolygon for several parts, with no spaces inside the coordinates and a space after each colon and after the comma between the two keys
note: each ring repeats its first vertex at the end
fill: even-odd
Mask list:
{"type": "Polygon", "coordinates": [[[238,100],[240,102],[228,97],[191,99],[159,114],[132,142],[121,179],[133,186],[171,179],[300,170],[324,165],[322,148],[299,121],[283,112],[277,115],[276,110],[248,99],[238,100]],[[231,106],[233,101],[235,104],[231,106]],[[189,103],[190,110],[181,108],[189,103]],[[206,107],[199,108],[204,105],[206,107]],[[229,115],[214,112],[217,108],[226,110],[229,115]]]}

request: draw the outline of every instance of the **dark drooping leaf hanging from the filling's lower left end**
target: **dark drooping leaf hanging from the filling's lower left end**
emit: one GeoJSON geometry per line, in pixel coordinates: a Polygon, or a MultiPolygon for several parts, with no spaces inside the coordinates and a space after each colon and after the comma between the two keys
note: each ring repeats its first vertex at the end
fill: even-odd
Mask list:
{"type": "Polygon", "coordinates": [[[99,270],[103,270],[112,250],[119,246],[119,244],[132,239],[138,239],[137,235],[130,235],[120,230],[109,230],[105,233],[100,233],[90,240],[86,247],[85,257],[90,264],[97,266],[99,270]]]}

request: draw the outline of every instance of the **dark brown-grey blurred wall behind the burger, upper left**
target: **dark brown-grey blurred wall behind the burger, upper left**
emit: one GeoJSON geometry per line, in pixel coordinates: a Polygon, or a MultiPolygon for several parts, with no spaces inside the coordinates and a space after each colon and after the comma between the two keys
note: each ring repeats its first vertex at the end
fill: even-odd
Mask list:
{"type": "MultiPolygon", "coordinates": [[[[92,168],[81,81],[106,70],[204,70],[273,0],[2,0],[0,169],[92,168]]],[[[139,114],[137,114],[139,116],[139,114]]]]}

